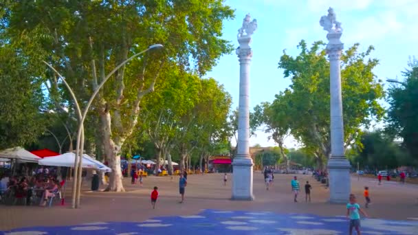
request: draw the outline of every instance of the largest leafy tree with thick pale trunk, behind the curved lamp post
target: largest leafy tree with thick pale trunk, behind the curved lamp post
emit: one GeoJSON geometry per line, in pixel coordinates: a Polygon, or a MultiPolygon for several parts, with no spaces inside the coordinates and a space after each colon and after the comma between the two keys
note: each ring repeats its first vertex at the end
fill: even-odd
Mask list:
{"type": "MultiPolygon", "coordinates": [[[[123,191],[120,153],[138,122],[143,98],[158,75],[177,65],[205,74],[232,47],[221,38],[223,20],[233,10],[220,0],[205,1],[13,1],[4,17],[15,38],[41,45],[44,60],[74,87],[81,104],[114,67],[154,43],[150,52],[121,67],[100,91],[93,110],[100,118],[104,153],[112,168],[107,190],[123,191]],[[162,61],[166,61],[163,65],[162,61]]],[[[25,49],[25,48],[23,48],[25,49]]],[[[58,83],[65,103],[72,104],[58,83]]]]}

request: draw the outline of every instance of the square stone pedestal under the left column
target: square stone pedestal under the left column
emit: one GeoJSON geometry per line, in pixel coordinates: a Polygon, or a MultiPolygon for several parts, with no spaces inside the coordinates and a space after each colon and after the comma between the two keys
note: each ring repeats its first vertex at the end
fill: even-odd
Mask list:
{"type": "Polygon", "coordinates": [[[232,197],[236,201],[254,201],[252,194],[252,159],[238,155],[232,162],[232,197]]]}

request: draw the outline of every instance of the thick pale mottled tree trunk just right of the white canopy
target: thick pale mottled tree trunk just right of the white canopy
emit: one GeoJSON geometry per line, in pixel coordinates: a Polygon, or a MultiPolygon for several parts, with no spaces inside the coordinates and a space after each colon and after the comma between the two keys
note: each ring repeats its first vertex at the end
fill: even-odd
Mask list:
{"type": "Polygon", "coordinates": [[[108,111],[100,114],[103,134],[104,153],[109,161],[109,168],[112,169],[109,177],[109,186],[105,191],[124,192],[122,184],[122,170],[120,170],[120,148],[122,143],[115,144],[111,139],[111,116],[108,111]]]}

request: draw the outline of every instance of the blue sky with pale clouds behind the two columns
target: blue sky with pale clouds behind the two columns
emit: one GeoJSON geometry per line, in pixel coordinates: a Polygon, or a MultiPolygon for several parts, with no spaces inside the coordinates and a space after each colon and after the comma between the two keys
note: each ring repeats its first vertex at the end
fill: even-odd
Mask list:
{"type": "MultiPolygon", "coordinates": [[[[250,13],[258,23],[251,45],[250,109],[261,102],[272,102],[276,93],[289,86],[289,79],[283,78],[283,71],[277,68],[283,49],[295,56],[301,39],[309,44],[327,41],[327,32],[320,27],[319,19],[330,6],[342,23],[344,48],[354,43],[360,43],[362,51],[369,45],[375,47],[372,56],[380,60],[374,70],[377,79],[401,80],[408,56],[418,54],[417,0],[227,0],[225,4],[236,10],[236,18],[225,21],[223,38],[232,41],[235,47],[236,33],[245,14],[250,13]]],[[[223,56],[207,76],[225,86],[232,95],[233,107],[237,107],[239,62],[235,53],[223,56]]],[[[250,144],[274,146],[267,137],[268,134],[258,131],[250,144]]],[[[285,145],[293,148],[297,143],[288,137],[285,145]]]]}

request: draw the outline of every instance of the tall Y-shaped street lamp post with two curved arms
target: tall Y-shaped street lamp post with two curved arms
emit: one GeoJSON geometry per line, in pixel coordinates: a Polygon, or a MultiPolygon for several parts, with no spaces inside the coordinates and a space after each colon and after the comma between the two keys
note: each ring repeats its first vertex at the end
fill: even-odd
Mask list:
{"type": "Polygon", "coordinates": [[[84,121],[85,121],[85,117],[87,116],[87,112],[89,111],[89,107],[90,107],[91,103],[93,102],[94,98],[98,94],[98,91],[100,90],[100,88],[103,87],[104,83],[107,82],[107,80],[109,80],[109,78],[115,73],[115,71],[118,71],[118,69],[120,69],[120,67],[124,66],[126,63],[133,60],[137,56],[140,56],[141,54],[144,54],[145,52],[148,52],[150,49],[159,48],[159,47],[163,47],[163,45],[161,45],[161,44],[151,45],[147,49],[145,49],[144,51],[139,52],[137,54],[134,54],[133,56],[124,60],[124,62],[120,63],[120,65],[115,67],[115,69],[113,69],[103,79],[103,81],[100,83],[100,85],[98,85],[97,89],[91,95],[91,97],[89,99],[89,102],[87,102],[87,106],[83,110],[83,113],[81,112],[80,106],[78,105],[78,102],[77,102],[77,99],[76,99],[76,96],[75,96],[74,92],[72,91],[71,87],[69,87],[69,85],[65,81],[65,78],[63,76],[61,76],[61,74],[59,74],[58,71],[56,71],[56,69],[54,69],[54,67],[52,67],[52,65],[43,61],[43,63],[45,63],[48,67],[50,67],[53,71],[55,71],[56,74],[58,74],[58,76],[61,78],[61,80],[63,80],[63,82],[65,84],[65,87],[67,87],[67,89],[71,93],[72,99],[74,100],[74,103],[76,104],[76,111],[77,111],[77,114],[78,114],[79,123],[78,123],[78,131],[77,131],[76,158],[74,159],[74,182],[73,182],[73,188],[72,188],[72,196],[73,196],[72,197],[72,208],[78,208],[79,205],[80,205],[80,189],[81,189],[81,179],[82,179],[81,172],[83,170],[81,166],[82,166],[82,163],[83,163],[83,157],[82,156],[83,156],[83,148],[84,148],[84,125],[83,124],[84,124],[84,121]]]}

